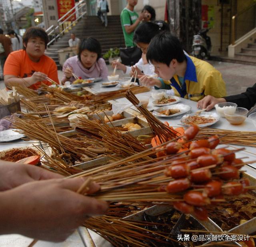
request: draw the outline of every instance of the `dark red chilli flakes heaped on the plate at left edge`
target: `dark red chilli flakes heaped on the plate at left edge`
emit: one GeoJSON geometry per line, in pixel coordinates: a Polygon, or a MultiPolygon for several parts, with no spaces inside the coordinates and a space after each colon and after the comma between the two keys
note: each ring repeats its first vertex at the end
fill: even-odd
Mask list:
{"type": "Polygon", "coordinates": [[[16,162],[30,156],[39,155],[36,150],[28,148],[12,148],[8,151],[1,152],[0,159],[5,161],[16,162]]]}

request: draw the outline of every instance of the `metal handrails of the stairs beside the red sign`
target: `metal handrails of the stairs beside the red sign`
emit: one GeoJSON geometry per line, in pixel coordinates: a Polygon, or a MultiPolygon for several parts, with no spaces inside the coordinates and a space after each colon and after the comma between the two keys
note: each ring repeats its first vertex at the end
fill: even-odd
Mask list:
{"type": "MultiPolygon", "coordinates": [[[[81,8],[83,8],[84,6],[86,6],[86,2],[84,2],[84,0],[80,1],[76,6],[74,6],[73,8],[71,8],[66,14],[64,14],[64,16],[62,16],[60,19],[57,20],[58,22],[58,26],[56,26],[54,28],[54,25],[50,26],[47,30],[46,33],[48,31],[50,31],[48,33],[48,36],[52,33],[55,33],[58,29],[60,29],[60,26],[62,24],[64,24],[64,22],[68,21],[68,19],[70,19],[72,16],[74,16],[74,14],[76,14],[76,12],[79,13],[78,10],[80,10],[81,8]],[[77,8],[78,7],[78,8],[77,8]],[[76,9],[77,8],[77,9],[76,9]],[[75,10],[75,12],[73,12],[71,15],[69,15],[67,18],[65,18],[68,14],[70,14],[70,12],[72,12],[73,10],[75,10]],[[65,19],[64,19],[65,18],[65,19]],[[64,20],[63,20],[64,19],[64,20]],[[61,22],[61,20],[63,20],[61,22]]],[[[82,12],[82,14],[80,16],[78,16],[78,18],[76,18],[76,20],[74,20],[70,25],[68,25],[66,28],[64,28],[64,30],[62,30],[62,32],[60,32],[57,36],[55,36],[52,40],[50,40],[50,42],[48,42],[47,46],[49,46],[50,44],[52,44],[52,42],[54,42],[57,38],[60,37],[61,34],[63,34],[68,28],[70,28],[70,26],[72,26],[77,20],[79,20],[80,18],[82,18],[84,15],[86,14],[86,11],[82,12]]]]}

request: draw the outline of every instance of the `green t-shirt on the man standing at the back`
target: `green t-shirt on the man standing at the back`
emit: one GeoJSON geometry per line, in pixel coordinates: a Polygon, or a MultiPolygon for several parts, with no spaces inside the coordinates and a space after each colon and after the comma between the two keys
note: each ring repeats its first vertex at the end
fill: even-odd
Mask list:
{"type": "Polygon", "coordinates": [[[128,10],[128,8],[124,8],[121,12],[120,18],[121,18],[122,30],[124,33],[124,41],[125,41],[126,47],[134,46],[134,44],[133,44],[134,32],[131,32],[130,34],[128,34],[124,27],[130,26],[131,20],[132,20],[132,24],[134,24],[134,22],[136,22],[138,17],[139,17],[139,15],[136,12],[130,11],[130,10],[128,10]]]}

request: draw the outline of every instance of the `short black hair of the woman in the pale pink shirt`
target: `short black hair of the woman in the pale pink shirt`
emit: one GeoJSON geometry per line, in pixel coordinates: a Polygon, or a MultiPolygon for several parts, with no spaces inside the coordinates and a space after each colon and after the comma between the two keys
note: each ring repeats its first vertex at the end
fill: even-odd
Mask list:
{"type": "Polygon", "coordinates": [[[78,47],[78,59],[81,61],[81,53],[84,50],[88,50],[89,52],[97,53],[97,61],[101,58],[101,46],[100,42],[95,38],[88,37],[83,39],[80,46],[78,47]]]}

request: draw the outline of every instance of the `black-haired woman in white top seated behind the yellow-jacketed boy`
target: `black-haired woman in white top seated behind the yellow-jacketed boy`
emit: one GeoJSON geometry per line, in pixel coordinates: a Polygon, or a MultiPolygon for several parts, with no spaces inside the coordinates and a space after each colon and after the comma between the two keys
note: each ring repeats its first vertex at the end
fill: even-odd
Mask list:
{"type": "Polygon", "coordinates": [[[134,71],[137,70],[138,75],[152,76],[155,74],[154,66],[148,63],[146,59],[147,49],[150,40],[159,32],[164,30],[170,30],[168,24],[162,21],[153,22],[142,22],[138,28],[136,28],[133,36],[134,43],[142,50],[142,56],[140,60],[134,66],[125,66],[119,61],[113,61],[112,67],[122,70],[124,74],[132,76],[134,71]]]}

